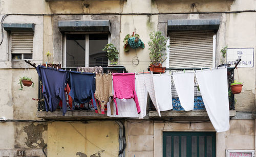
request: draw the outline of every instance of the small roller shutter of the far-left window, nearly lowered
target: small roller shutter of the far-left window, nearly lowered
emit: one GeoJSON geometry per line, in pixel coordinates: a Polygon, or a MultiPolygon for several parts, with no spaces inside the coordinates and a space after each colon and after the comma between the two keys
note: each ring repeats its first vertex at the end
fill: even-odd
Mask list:
{"type": "Polygon", "coordinates": [[[12,54],[32,54],[33,52],[33,33],[12,33],[11,52],[12,54]]]}

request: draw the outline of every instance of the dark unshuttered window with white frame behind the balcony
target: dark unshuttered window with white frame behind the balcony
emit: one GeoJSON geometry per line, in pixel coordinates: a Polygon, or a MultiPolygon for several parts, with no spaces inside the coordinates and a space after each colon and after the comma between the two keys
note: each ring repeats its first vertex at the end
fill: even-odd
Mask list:
{"type": "Polygon", "coordinates": [[[63,67],[108,66],[102,49],[109,43],[109,34],[66,34],[63,67]]]}

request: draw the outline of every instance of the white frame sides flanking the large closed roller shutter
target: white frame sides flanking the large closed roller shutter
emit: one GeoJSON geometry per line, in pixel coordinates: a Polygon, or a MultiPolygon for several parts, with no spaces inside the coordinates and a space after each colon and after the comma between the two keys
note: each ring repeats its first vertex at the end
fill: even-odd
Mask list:
{"type": "MultiPolygon", "coordinates": [[[[166,43],[166,47],[170,45],[170,36],[169,33],[167,35],[168,40],[166,43]]],[[[212,68],[215,68],[216,66],[216,33],[215,35],[212,37],[213,38],[213,42],[212,42],[212,68]]],[[[169,68],[169,61],[170,61],[170,49],[169,47],[166,48],[166,68],[169,68]]]]}

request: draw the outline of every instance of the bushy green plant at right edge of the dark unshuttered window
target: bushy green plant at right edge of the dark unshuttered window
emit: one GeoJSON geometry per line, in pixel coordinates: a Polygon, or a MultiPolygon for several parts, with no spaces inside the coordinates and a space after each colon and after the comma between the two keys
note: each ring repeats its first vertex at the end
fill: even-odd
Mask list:
{"type": "Polygon", "coordinates": [[[116,49],[115,45],[110,43],[106,44],[105,47],[102,49],[106,53],[106,57],[110,60],[111,65],[116,65],[118,60],[118,50],[116,49]]]}

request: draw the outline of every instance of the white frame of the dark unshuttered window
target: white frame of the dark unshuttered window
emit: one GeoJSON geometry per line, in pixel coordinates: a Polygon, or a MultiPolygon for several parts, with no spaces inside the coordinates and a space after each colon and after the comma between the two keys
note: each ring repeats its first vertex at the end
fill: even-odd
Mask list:
{"type": "MultiPolygon", "coordinates": [[[[86,58],[85,58],[85,67],[89,67],[89,34],[109,34],[108,32],[102,32],[102,33],[98,33],[98,32],[67,32],[63,35],[63,60],[62,60],[62,67],[63,68],[67,68],[67,63],[66,63],[66,59],[67,59],[67,34],[85,34],[86,35],[86,58]]],[[[108,44],[111,43],[111,34],[109,34],[108,37],[108,44]]],[[[110,61],[108,59],[108,65],[110,65],[110,61]]]]}

